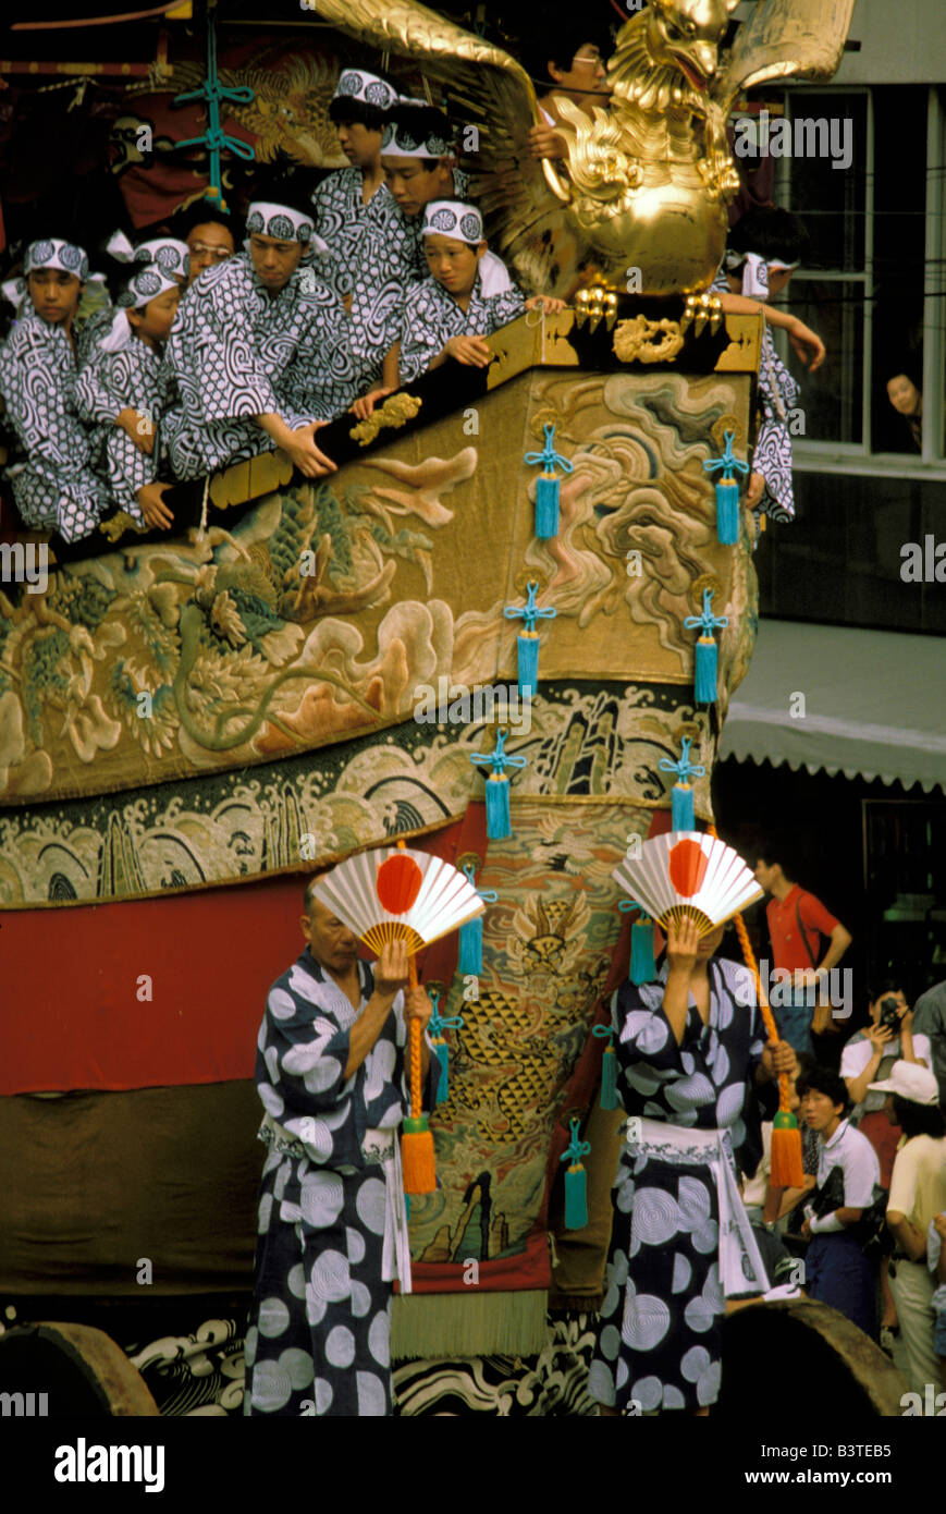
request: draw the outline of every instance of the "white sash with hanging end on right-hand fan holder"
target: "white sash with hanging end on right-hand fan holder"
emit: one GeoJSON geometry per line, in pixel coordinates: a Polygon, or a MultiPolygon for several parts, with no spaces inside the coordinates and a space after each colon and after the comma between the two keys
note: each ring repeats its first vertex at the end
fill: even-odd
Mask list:
{"type": "Polygon", "coordinates": [[[663,1120],[631,1116],[627,1122],[628,1151],[642,1157],[674,1154],[708,1166],[719,1202],[719,1281],[727,1297],[737,1293],[767,1293],[769,1278],[736,1184],[728,1131],[684,1129],[663,1120]],[[743,1261],[748,1266],[743,1267],[743,1261]]]}

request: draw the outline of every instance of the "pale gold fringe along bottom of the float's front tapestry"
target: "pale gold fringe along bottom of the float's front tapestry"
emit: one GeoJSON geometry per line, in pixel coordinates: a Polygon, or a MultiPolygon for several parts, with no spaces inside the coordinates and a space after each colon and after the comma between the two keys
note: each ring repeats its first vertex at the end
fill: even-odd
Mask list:
{"type": "Polygon", "coordinates": [[[537,1357],[548,1344],[548,1293],[398,1293],[394,1361],[437,1357],[537,1357]]]}

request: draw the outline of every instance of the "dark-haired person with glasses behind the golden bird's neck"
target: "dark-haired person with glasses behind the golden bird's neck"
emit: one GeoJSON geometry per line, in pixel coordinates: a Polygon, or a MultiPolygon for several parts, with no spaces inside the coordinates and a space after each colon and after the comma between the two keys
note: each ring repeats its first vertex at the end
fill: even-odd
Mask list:
{"type": "Polygon", "coordinates": [[[525,67],[537,86],[551,80],[552,88],[546,88],[537,100],[542,123],[533,126],[528,136],[533,157],[565,157],[568,148],[555,130],[562,121],[571,124],[562,112],[563,100],[569,100],[589,118],[595,106],[607,106],[610,89],[605,61],[610,50],[607,29],[596,27],[587,18],[549,18],[542,27],[542,41],[525,59],[525,67]]]}

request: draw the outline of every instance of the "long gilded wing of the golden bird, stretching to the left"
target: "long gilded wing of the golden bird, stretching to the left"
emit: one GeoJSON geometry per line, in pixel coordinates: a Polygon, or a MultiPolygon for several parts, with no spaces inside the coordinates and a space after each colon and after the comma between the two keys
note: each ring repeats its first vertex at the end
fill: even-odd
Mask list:
{"type": "Polygon", "coordinates": [[[540,117],[516,59],[415,0],[315,0],[312,9],[339,32],[413,59],[447,86],[454,120],[478,133],[475,150],[460,133],[462,156],[472,164],[471,195],[492,250],[527,292],[568,294],[587,242],[566,223],[542,160],[530,153],[528,132],[540,117]]]}

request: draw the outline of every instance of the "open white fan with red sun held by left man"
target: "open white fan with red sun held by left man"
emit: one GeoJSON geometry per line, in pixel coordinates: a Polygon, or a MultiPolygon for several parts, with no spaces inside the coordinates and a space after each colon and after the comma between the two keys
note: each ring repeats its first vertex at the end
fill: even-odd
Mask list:
{"type": "Polygon", "coordinates": [[[378,954],[397,940],[413,954],[486,908],[457,868],[407,846],[348,857],[319,878],[313,893],[378,954]]]}

